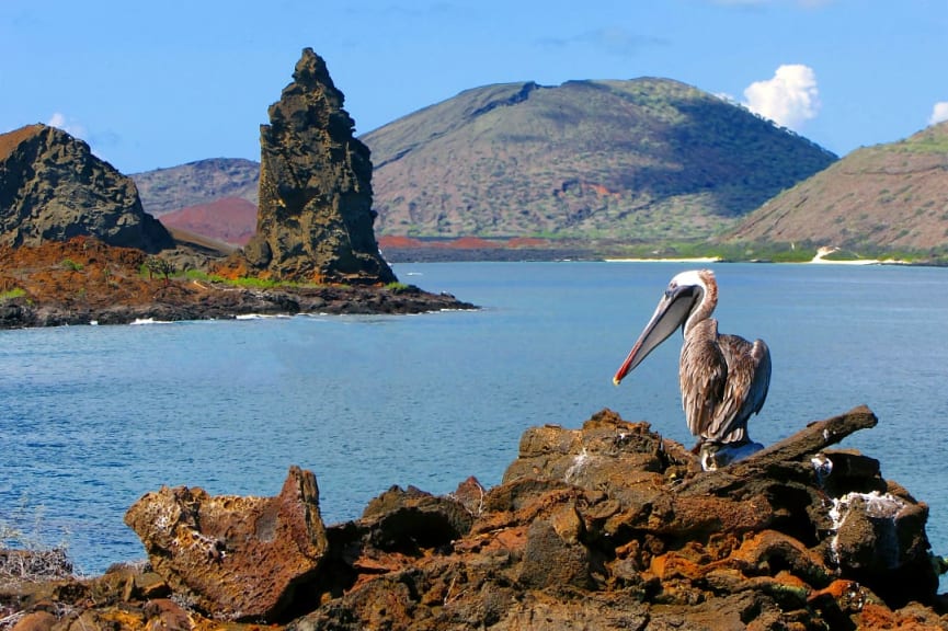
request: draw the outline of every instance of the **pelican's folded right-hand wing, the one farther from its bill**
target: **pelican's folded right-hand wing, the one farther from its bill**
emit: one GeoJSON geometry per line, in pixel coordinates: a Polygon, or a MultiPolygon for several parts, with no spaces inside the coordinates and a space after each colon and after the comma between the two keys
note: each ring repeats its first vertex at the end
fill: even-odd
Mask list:
{"type": "Polygon", "coordinates": [[[718,336],[728,364],[728,386],[706,436],[720,443],[743,440],[747,420],[764,406],[770,387],[770,351],[763,341],[753,344],[738,335],[718,336]]]}

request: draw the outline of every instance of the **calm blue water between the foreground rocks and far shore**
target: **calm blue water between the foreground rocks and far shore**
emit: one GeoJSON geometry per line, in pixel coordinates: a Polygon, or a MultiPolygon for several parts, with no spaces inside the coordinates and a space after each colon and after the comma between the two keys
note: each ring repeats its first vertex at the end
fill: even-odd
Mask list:
{"type": "MultiPolygon", "coordinates": [[[[393,484],[498,484],[533,425],[603,408],[692,446],[671,337],[612,376],[688,264],[401,264],[477,312],[0,332],[0,526],[65,542],[79,570],[145,558],[122,518],[162,484],[273,495],[312,470],[327,523],[393,484]]],[[[712,265],[720,330],[763,337],[769,444],[860,403],[844,443],[930,506],[948,553],[948,269],[712,265]]]]}

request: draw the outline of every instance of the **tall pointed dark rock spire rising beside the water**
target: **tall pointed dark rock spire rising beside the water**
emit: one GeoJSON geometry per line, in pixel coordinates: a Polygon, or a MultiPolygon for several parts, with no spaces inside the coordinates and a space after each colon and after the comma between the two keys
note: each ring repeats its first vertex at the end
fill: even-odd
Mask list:
{"type": "Polygon", "coordinates": [[[244,249],[259,275],[309,283],[390,283],[372,210],[369,150],[353,136],[344,96],[306,48],[261,125],[256,234],[244,249]]]}

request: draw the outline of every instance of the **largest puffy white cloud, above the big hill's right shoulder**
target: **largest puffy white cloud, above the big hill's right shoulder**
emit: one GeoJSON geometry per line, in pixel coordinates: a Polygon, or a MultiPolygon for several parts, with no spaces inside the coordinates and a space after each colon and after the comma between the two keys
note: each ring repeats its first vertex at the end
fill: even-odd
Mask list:
{"type": "Polygon", "coordinates": [[[799,130],[803,123],[815,118],[820,111],[816,73],[802,64],[780,66],[773,79],[747,85],[744,99],[744,105],[751,112],[799,130]]]}

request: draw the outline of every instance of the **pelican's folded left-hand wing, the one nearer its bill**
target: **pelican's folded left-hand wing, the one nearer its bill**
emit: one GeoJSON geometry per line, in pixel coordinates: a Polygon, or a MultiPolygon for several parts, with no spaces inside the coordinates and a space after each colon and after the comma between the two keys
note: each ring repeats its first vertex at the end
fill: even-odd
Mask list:
{"type": "Polygon", "coordinates": [[[682,347],[678,366],[682,408],[694,436],[708,436],[728,382],[728,364],[718,345],[701,340],[682,347]]]}

